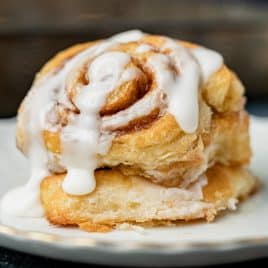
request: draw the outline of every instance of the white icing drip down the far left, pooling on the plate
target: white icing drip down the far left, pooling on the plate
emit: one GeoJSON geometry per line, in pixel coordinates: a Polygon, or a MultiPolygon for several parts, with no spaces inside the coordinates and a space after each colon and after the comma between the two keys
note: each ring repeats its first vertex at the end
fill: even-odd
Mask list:
{"type": "MultiPolygon", "coordinates": [[[[47,86],[53,89],[54,81],[48,81],[47,86]]],[[[45,85],[38,89],[34,88],[24,105],[24,123],[27,124],[27,138],[31,142],[28,148],[31,176],[27,184],[11,190],[2,199],[1,209],[8,214],[31,217],[39,217],[43,214],[39,200],[39,187],[40,182],[49,172],[46,166],[47,152],[40,131],[45,116],[43,111],[46,111],[50,100],[54,98],[53,90],[47,90],[48,88],[45,85]]]]}

